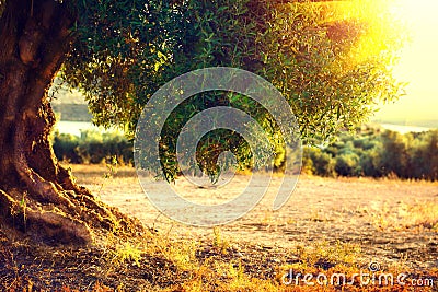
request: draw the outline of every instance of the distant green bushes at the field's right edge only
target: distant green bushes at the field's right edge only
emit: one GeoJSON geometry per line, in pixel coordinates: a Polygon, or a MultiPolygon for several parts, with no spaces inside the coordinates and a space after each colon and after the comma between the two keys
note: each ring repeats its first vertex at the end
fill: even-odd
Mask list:
{"type": "Polygon", "coordinates": [[[343,133],[325,148],[306,148],[303,171],[321,176],[438,179],[438,130],[419,133],[369,128],[343,133]],[[333,164],[335,164],[333,170],[333,164]]]}

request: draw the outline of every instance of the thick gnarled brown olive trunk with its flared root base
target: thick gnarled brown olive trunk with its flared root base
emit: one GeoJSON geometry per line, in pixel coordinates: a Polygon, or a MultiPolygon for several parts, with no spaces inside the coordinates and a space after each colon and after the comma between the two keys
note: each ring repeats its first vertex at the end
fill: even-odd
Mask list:
{"type": "Polygon", "coordinates": [[[48,139],[55,116],[47,90],[74,21],[55,0],[10,0],[0,16],[0,227],[47,243],[90,243],[96,229],[142,231],[77,186],[48,139]]]}

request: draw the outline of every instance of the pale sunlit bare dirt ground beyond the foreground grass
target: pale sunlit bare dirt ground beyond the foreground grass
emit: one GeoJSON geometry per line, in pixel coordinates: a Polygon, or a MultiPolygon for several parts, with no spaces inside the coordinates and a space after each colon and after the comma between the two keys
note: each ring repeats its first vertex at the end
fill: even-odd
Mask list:
{"type": "MultiPolygon", "coordinates": [[[[220,232],[222,241],[239,249],[251,244],[287,255],[300,246],[323,242],[354,244],[358,264],[403,265],[418,272],[438,268],[438,183],[399,179],[321,178],[300,176],[296,190],[278,211],[272,210],[274,190],[243,218],[219,229],[177,223],[160,213],[147,199],[135,170],[118,167],[111,178],[105,166],[72,165],[78,183],[146,225],[173,238],[197,242],[220,232]]],[[[224,202],[239,194],[247,176],[233,185],[199,188],[185,182],[183,196],[201,203],[224,202]]]]}

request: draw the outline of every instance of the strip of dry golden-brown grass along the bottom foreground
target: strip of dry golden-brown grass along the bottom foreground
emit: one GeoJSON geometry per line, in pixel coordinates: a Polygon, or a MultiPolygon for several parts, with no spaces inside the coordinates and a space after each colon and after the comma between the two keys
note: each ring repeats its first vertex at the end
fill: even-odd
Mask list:
{"type": "MultiPolygon", "coordinates": [[[[207,243],[159,234],[138,242],[110,236],[90,249],[9,242],[0,249],[8,257],[0,268],[2,291],[413,291],[412,279],[436,281],[438,276],[438,270],[414,275],[397,265],[372,272],[360,260],[360,246],[349,243],[299,245],[286,256],[246,246],[242,256],[231,247],[227,253],[215,247],[215,236],[207,243]],[[267,265],[273,257],[280,260],[267,265]],[[269,269],[275,272],[265,277],[269,269]],[[364,272],[374,275],[376,281],[383,272],[405,272],[405,284],[365,285],[358,276],[364,272]]],[[[425,285],[422,291],[433,289],[425,285]]]]}

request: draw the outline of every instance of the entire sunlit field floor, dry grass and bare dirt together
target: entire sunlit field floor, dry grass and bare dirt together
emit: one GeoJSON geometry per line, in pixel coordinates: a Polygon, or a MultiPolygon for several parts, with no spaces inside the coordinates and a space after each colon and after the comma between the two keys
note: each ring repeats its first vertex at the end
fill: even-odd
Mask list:
{"type": "MultiPolygon", "coordinates": [[[[32,243],[11,243],[0,250],[5,262],[0,269],[3,290],[438,289],[438,183],[300,176],[280,210],[272,211],[275,192],[268,191],[246,215],[214,229],[187,226],[161,214],[131,167],[71,167],[78,183],[102,201],[155,232],[142,243],[108,237],[89,249],[53,249],[56,254],[32,243]],[[339,273],[345,282],[337,279],[339,273]],[[361,273],[367,276],[360,279],[361,273]],[[392,275],[393,281],[380,281],[381,275],[392,275]]],[[[246,180],[237,176],[233,186],[246,180]]],[[[279,182],[274,177],[272,184],[279,182]]],[[[187,199],[204,203],[226,201],[239,191],[230,186],[176,185],[187,199]]]]}

